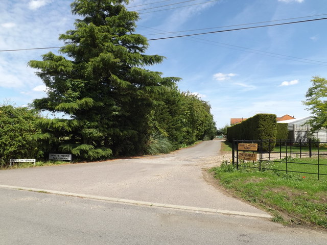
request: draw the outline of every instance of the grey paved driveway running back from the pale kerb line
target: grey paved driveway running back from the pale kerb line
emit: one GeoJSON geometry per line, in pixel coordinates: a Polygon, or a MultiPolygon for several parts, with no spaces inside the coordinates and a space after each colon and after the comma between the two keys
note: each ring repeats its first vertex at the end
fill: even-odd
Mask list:
{"type": "Polygon", "coordinates": [[[0,185],[265,214],[205,181],[203,169],[230,158],[220,154],[220,144],[212,140],[159,156],[1,170],[0,185]]]}

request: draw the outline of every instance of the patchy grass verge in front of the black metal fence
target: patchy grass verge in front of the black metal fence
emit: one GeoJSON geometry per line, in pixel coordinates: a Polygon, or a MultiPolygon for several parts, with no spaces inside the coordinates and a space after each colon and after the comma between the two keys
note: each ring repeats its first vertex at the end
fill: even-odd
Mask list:
{"type": "Polygon", "coordinates": [[[275,222],[327,229],[327,181],[276,174],[223,163],[212,168],[215,178],[233,194],[274,215],[275,222]]]}

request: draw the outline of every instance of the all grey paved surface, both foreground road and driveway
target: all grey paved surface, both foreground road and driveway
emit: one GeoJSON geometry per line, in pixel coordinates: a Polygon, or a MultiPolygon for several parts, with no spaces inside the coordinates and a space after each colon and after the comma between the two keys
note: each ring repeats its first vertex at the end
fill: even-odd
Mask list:
{"type": "Polygon", "coordinates": [[[0,244],[327,244],[325,232],[284,228],[269,219],[19,190],[265,215],[204,180],[203,168],[220,163],[219,150],[214,140],[154,157],[2,170],[0,244]]]}

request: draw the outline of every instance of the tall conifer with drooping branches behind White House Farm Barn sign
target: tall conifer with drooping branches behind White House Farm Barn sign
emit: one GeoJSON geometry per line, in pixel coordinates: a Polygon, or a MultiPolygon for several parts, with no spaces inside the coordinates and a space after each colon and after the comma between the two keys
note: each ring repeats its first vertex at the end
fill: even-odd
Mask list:
{"type": "Polygon", "coordinates": [[[34,106],[69,116],[39,121],[37,138],[48,142],[48,151],[99,159],[144,150],[147,115],[159,103],[154,98],[178,79],[145,69],[164,57],[145,55],[147,39],[134,34],[138,14],[124,3],[75,0],[72,13],[82,19],[60,35],[63,56],[50,52],[29,62],[48,87],[48,96],[34,106]]]}

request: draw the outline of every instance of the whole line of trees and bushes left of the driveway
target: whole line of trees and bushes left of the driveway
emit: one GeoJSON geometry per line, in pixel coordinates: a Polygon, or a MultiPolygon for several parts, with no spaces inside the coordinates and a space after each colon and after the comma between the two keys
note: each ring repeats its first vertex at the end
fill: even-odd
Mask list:
{"type": "Polygon", "coordinates": [[[147,39],[135,34],[138,14],[124,3],[128,1],[71,4],[81,19],[74,30],[60,35],[60,55],[49,52],[28,63],[46,85],[46,97],[34,100],[33,109],[0,107],[6,115],[0,118],[2,164],[49,153],[80,160],[158,154],[214,137],[209,104],[180,91],[179,78],[148,69],[165,57],[146,54],[147,39]],[[64,116],[40,116],[44,111],[64,116]],[[20,125],[26,121],[30,128],[24,131],[20,125]],[[6,136],[16,146],[4,137],[11,126],[21,130],[6,136]]]}

